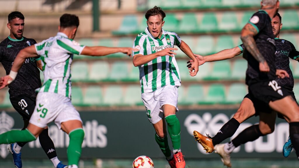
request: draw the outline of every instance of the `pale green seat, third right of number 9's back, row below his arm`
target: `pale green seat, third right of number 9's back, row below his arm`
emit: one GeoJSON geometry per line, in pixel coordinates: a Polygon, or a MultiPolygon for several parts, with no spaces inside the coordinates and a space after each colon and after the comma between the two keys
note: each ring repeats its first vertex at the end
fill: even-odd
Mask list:
{"type": "Polygon", "coordinates": [[[110,69],[109,81],[124,81],[128,77],[128,64],[127,62],[119,61],[114,62],[110,69]]]}

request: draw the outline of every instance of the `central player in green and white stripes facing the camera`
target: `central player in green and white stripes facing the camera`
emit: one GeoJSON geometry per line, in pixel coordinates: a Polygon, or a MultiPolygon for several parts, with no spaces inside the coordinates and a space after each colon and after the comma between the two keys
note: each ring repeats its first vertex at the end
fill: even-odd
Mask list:
{"type": "MultiPolygon", "coordinates": [[[[181,85],[180,72],[174,55],[177,45],[194,62],[190,76],[198,72],[198,60],[189,46],[174,32],[164,31],[166,14],[160,7],[153,7],[145,14],[147,28],[138,34],[134,42],[133,64],[139,67],[141,98],[150,123],[156,134],[155,140],[165,155],[170,167],[184,168],[185,161],[181,152],[180,123],[176,117],[178,87],[181,85]],[[173,144],[171,152],[166,123],[173,144]]],[[[187,68],[186,68],[187,70],[187,68]]]]}

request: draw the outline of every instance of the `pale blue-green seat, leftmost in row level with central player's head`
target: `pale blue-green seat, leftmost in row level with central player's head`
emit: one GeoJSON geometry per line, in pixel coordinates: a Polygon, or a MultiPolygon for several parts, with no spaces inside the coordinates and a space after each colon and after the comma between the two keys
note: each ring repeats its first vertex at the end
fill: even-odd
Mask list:
{"type": "Polygon", "coordinates": [[[127,15],[123,17],[123,21],[120,28],[117,31],[113,31],[113,34],[130,34],[138,30],[138,22],[135,15],[127,15]]]}

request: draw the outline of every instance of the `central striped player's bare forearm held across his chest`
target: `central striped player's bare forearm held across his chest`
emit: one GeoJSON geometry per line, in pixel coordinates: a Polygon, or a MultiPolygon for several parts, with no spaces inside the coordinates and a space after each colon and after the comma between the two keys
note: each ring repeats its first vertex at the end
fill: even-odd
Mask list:
{"type": "Polygon", "coordinates": [[[178,50],[177,48],[166,48],[164,50],[158,51],[153,54],[149,55],[142,55],[142,54],[137,54],[133,56],[133,64],[134,66],[140,66],[144,65],[153,59],[159,57],[159,56],[173,56],[172,54],[176,55],[176,53],[173,52],[173,50],[178,50]]]}

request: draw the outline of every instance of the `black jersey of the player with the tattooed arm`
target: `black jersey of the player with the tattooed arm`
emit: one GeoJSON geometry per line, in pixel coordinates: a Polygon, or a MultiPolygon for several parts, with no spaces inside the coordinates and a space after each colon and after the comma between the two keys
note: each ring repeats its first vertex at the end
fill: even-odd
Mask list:
{"type": "Polygon", "coordinates": [[[254,36],[254,40],[257,44],[257,49],[265,58],[269,65],[270,72],[260,72],[259,62],[245,49],[244,56],[247,57],[248,68],[246,71],[246,84],[252,79],[264,81],[275,79],[275,42],[272,32],[271,18],[264,10],[259,10],[254,13],[249,24],[253,25],[257,29],[258,34],[254,36]]]}

